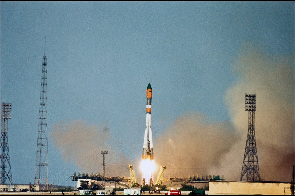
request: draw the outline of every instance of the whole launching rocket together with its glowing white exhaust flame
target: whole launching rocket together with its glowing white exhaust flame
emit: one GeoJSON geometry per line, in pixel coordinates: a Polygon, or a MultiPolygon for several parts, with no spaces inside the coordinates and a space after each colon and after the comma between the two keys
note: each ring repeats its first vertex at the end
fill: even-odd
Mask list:
{"type": "Polygon", "coordinates": [[[150,83],[147,88],[147,106],[146,106],[146,121],[145,121],[145,136],[143,140],[142,161],[140,169],[142,171],[142,180],[145,179],[144,184],[149,185],[150,179],[153,179],[153,172],[155,170],[154,151],[153,151],[153,137],[152,137],[152,87],[150,83]]]}

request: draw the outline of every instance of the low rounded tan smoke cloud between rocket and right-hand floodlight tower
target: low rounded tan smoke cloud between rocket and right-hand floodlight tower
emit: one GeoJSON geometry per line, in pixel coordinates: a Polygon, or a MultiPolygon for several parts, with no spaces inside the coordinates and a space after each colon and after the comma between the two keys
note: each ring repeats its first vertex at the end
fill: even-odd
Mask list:
{"type": "Polygon", "coordinates": [[[208,122],[199,113],[185,114],[155,140],[156,162],[167,166],[165,176],[217,175],[219,160],[238,139],[231,123],[208,122]]]}

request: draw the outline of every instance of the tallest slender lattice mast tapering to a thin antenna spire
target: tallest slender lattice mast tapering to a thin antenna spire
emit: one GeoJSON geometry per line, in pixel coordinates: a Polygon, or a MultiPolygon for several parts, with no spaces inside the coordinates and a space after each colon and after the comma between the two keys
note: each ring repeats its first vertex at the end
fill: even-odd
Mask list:
{"type": "MultiPolygon", "coordinates": [[[[46,46],[46,37],[45,37],[46,46]]],[[[35,166],[35,185],[43,185],[42,190],[48,190],[48,141],[47,141],[47,59],[42,62],[42,78],[39,108],[39,125],[37,139],[37,153],[35,166]]]]}

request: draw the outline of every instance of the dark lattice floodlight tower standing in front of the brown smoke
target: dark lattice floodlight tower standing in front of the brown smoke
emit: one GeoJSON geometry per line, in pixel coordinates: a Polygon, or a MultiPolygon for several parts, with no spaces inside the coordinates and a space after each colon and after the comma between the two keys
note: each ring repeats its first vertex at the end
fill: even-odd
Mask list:
{"type": "Polygon", "coordinates": [[[254,117],[256,111],[256,93],[245,94],[245,111],[248,114],[248,135],[244,154],[244,162],[242,167],[241,180],[246,174],[247,181],[260,180],[258,168],[258,156],[255,140],[254,117]]]}

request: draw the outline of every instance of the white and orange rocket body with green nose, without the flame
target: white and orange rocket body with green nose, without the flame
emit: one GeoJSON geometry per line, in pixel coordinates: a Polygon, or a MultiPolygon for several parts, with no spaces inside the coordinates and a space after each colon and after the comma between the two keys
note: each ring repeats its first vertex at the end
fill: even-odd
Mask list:
{"type": "Polygon", "coordinates": [[[145,121],[145,137],[143,140],[142,159],[154,159],[153,137],[152,137],[152,87],[150,83],[147,88],[147,116],[145,121]]]}

